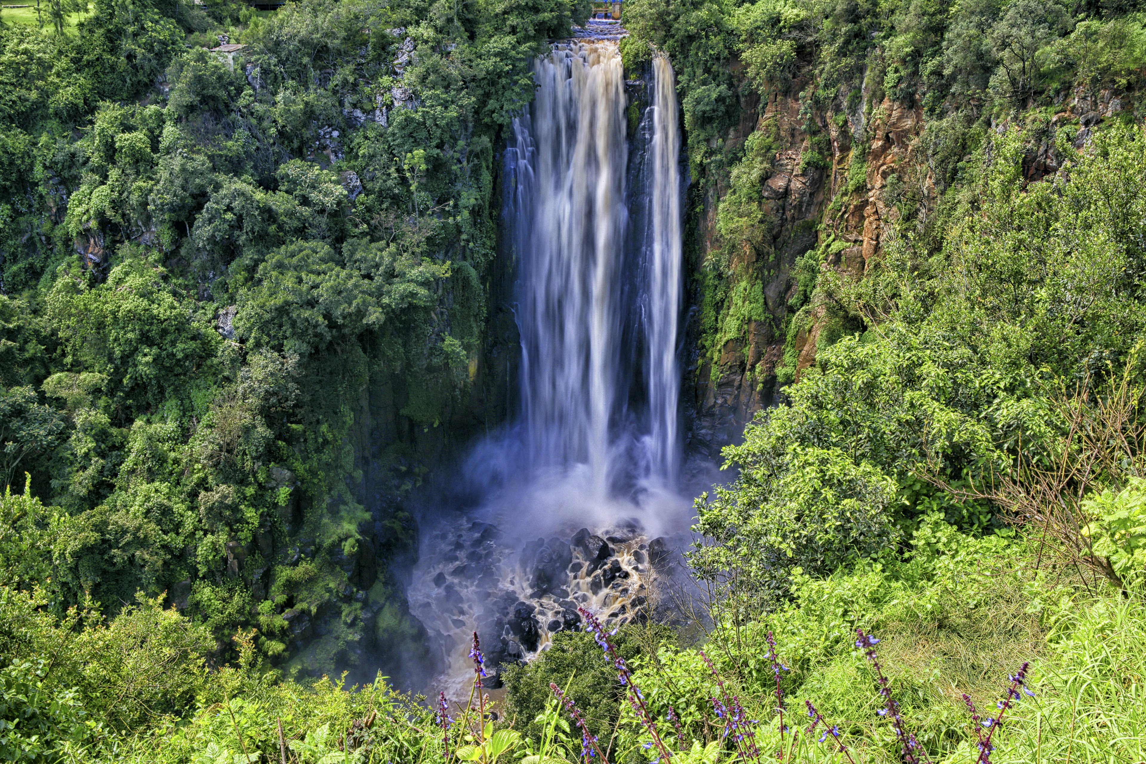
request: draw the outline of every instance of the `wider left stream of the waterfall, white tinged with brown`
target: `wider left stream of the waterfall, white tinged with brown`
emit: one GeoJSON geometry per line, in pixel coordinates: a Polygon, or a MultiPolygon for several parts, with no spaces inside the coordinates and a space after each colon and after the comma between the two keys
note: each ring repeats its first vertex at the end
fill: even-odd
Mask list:
{"type": "Polygon", "coordinates": [[[558,46],[515,121],[523,418],[533,466],[607,483],[625,234],[625,82],[614,45],[558,46]]]}

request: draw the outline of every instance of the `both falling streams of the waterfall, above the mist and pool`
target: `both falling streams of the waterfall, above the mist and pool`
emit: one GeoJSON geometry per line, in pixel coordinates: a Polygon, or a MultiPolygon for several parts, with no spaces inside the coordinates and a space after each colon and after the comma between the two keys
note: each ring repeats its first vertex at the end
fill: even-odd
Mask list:
{"type": "Polygon", "coordinates": [[[682,258],[673,69],[653,61],[639,158],[647,167],[636,173],[649,188],[636,189],[626,188],[617,46],[556,46],[534,77],[536,100],[515,120],[508,152],[525,454],[535,471],[586,467],[598,498],[619,482],[669,486],[680,451],[682,258]],[[630,206],[642,207],[635,216],[646,228],[636,236],[630,206]]]}

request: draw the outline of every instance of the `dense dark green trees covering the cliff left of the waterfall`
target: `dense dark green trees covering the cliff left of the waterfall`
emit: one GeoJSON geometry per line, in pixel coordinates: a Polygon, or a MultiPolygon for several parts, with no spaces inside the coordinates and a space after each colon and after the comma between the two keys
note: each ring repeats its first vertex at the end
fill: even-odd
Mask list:
{"type": "Polygon", "coordinates": [[[19,580],[55,617],[160,598],[212,663],[253,629],[291,675],[417,638],[398,435],[465,404],[494,147],[587,8],[96,0],[76,34],[68,2],[0,29],[0,476],[44,503],[19,580]],[[225,33],[233,62],[202,47],[225,33]]]}

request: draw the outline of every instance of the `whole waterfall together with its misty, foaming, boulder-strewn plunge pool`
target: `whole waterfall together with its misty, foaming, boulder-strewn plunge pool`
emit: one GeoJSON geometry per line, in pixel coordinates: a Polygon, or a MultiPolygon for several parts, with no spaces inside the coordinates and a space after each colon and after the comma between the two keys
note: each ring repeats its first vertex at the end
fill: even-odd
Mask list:
{"type": "MultiPolygon", "coordinates": [[[[409,589],[447,671],[477,631],[490,664],[544,649],[576,607],[647,607],[691,502],[678,493],[682,299],[675,81],[657,56],[627,135],[615,42],[554,46],[505,151],[507,249],[518,271],[521,410],[478,443],[461,482],[478,506],[423,530],[409,589]]],[[[453,687],[456,688],[456,687],[453,687]]]]}

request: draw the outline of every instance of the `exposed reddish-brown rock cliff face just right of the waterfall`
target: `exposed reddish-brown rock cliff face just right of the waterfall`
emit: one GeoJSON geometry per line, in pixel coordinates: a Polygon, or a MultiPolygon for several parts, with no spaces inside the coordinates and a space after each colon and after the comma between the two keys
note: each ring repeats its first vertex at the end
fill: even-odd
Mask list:
{"type": "MultiPolygon", "coordinates": [[[[924,128],[918,104],[890,99],[874,103],[865,87],[855,109],[841,104],[839,111],[809,116],[801,112],[795,95],[802,85],[794,82],[787,94],[772,93],[767,100],[743,96],[740,120],[725,142],[728,151],[755,131],[772,136],[775,150],[760,187],[770,241],[730,257],[724,269],[730,296],[722,306],[730,309],[727,302],[733,299],[738,281],[759,279],[766,315],[754,316],[740,337],[724,340],[715,357],[700,357],[694,365],[693,444],[709,450],[738,440],[753,415],[772,404],[785,356],[788,362],[794,357],[794,378],[815,362],[825,312],[822,305],[798,305],[806,297],[799,294],[798,260],[819,250],[821,269],[861,278],[879,257],[887,227],[896,219],[887,186],[893,178],[892,182],[902,183],[897,174],[916,165],[915,147],[924,128]],[[825,137],[829,156],[809,162],[825,137]],[[802,314],[796,313],[800,307],[802,314]]],[[[925,198],[934,197],[929,173],[915,180],[925,198]]],[[[702,212],[693,222],[699,239],[694,270],[727,246],[717,233],[717,207],[727,190],[727,182],[717,181],[702,199],[702,212]]],[[[783,379],[783,371],[780,377],[791,381],[783,379]]]]}

